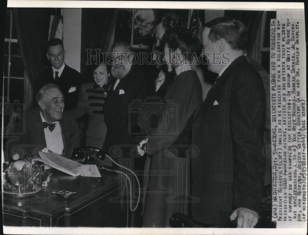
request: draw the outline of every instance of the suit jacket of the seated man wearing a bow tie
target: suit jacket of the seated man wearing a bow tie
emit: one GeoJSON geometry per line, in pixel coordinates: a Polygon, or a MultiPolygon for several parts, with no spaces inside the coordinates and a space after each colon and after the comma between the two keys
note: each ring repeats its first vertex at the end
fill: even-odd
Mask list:
{"type": "MultiPolygon", "coordinates": [[[[63,156],[71,156],[74,148],[80,145],[80,129],[75,119],[63,113],[62,119],[59,120],[63,139],[63,156]]],[[[46,147],[43,123],[38,107],[35,107],[25,113],[25,123],[16,123],[16,128],[20,129],[25,124],[25,133],[19,136],[19,141],[10,142],[9,154],[16,145],[25,146],[24,149],[28,154],[32,153],[33,147],[27,145],[42,145],[46,147]]]]}

